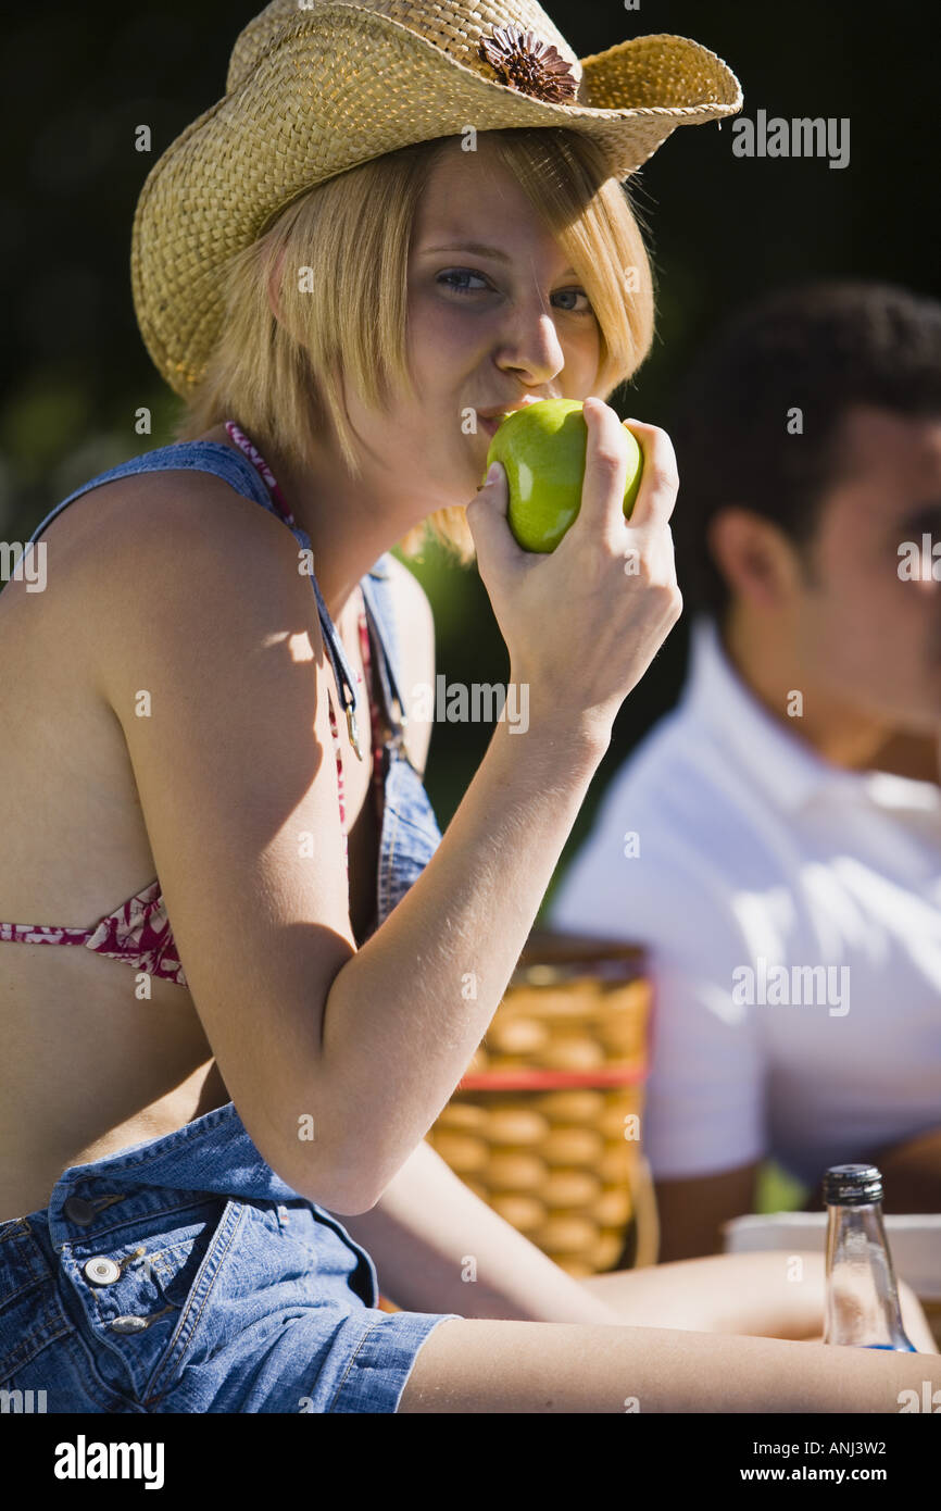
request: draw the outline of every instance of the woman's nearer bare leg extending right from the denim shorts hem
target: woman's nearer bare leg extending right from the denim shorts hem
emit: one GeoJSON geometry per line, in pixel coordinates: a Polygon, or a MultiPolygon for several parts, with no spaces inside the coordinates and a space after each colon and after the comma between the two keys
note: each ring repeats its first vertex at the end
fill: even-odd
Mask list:
{"type": "Polygon", "coordinates": [[[399,1411],[899,1413],[941,1387],[941,1357],[663,1328],[449,1319],[427,1337],[399,1411]]]}

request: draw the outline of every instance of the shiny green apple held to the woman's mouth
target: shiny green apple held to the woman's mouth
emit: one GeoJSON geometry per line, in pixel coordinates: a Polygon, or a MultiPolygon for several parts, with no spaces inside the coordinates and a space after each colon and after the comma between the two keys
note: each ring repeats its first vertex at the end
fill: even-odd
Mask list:
{"type": "MultiPolygon", "coordinates": [[[[640,487],[643,453],[628,446],[624,514],[640,487]]],[[[588,425],[578,399],[539,399],[512,409],[489,443],[486,465],[503,462],[509,485],[509,527],[524,552],[554,552],[582,508],[588,425]]]]}

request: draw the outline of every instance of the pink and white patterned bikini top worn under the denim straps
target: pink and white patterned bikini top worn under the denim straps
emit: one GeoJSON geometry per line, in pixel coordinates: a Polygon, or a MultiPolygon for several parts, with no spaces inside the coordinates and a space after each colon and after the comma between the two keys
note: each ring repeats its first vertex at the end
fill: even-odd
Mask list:
{"type": "MultiPolygon", "coordinates": [[[[284,496],[261,453],[231,420],[227,420],[225,429],[264,477],[272,497],[281,508],[281,515],[285,523],[293,524],[293,515],[287,508],[284,496]]],[[[382,724],[373,691],[369,627],[366,623],[363,597],[359,600],[358,629],[373,728],[373,793],[376,811],[379,811],[382,801],[382,743],[379,731],[382,724]]],[[[356,680],[363,681],[358,672],[356,680]]],[[[334,752],[337,757],[340,823],[343,828],[343,849],[349,878],[349,839],[346,833],[346,807],[343,801],[343,759],[332,700],[328,700],[328,706],[334,752]]],[[[95,950],[97,955],[107,955],[110,959],[122,959],[136,970],[147,972],[150,976],[162,976],[165,981],[175,981],[180,987],[186,987],[187,984],[183,966],[180,964],[177,955],[177,946],[174,944],[174,935],[166,916],[163,896],[160,893],[160,881],[150,882],[150,885],[143,887],[142,891],[137,891],[133,898],[128,898],[127,902],[122,902],[119,908],[115,908],[113,913],[109,913],[107,917],[92,925],[91,929],[66,929],[45,923],[0,923],[0,941],[21,944],[85,944],[86,949],[95,950]]]]}

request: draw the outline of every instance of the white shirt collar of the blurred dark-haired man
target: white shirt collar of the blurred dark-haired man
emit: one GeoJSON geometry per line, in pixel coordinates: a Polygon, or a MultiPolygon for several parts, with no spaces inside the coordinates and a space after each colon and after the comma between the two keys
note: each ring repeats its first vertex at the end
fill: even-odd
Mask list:
{"type": "Polygon", "coordinates": [[[791,734],[742,681],[716,624],[705,616],[693,621],[683,703],[698,724],[733,748],[739,765],[778,808],[798,811],[822,793],[828,798],[843,793],[887,808],[941,808],[933,783],[879,771],[846,771],[791,734]]]}

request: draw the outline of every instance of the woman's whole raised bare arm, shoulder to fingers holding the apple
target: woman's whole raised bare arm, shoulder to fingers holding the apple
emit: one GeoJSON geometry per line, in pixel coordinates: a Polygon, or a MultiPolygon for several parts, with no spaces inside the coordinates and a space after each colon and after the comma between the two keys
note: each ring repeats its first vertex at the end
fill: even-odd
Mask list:
{"type": "Polygon", "coordinates": [[[218,479],[181,487],[172,474],[159,511],[137,503],[133,533],[113,539],[115,511],[104,529],[100,684],[124,730],[193,1003],[263,1157],[341,1215],[375,1206],[450,1098],[613,718],[680,612],[672,449],[637,426],[653,453],[625,523],[627,446],[604,413],[582,514],[553,556],[515,547],[504,499],[501,515],[492,493],[468,505],[529,728],[497,724],[432,861],[359,952],[332,674],[293,536],[218,479]],[[550,615],[565,594],[566,615],[550,615]]]}

